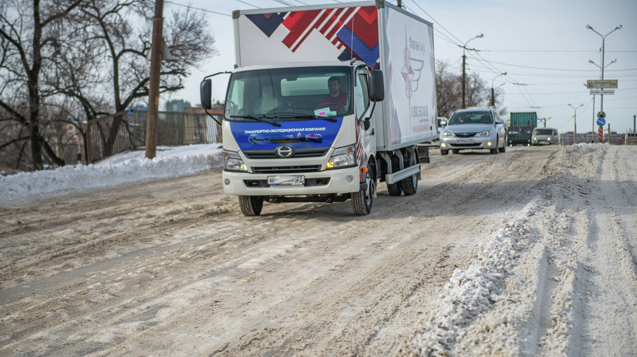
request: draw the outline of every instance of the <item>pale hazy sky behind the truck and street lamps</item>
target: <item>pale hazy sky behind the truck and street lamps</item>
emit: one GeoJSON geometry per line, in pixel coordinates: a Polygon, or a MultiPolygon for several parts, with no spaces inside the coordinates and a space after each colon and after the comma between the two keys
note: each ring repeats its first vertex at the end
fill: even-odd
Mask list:
{"type": "MultiPolygon", "coordinates": [[[[336,3],[330,0],[282,1],[299,6],[301,3],[336,3]]],[[[274,0],[165,0],[165,17],[172,10],[185,9],[175,3],[225,14],[206,12],[219,54],[210,58],[204,67],[194,69],[185,82],[186,88],[170,97],[188,100],[193,105],[199,104],[199,82],[203,76],[233,69],[231,12],[284,6],[274,0]]],[[[396,1],[390,3],[396,4],[396,1]]],[[[494,81],[494,86],[505,83],[502,88],[506,109],[509,112],[537,111],[538,118],[550,117],[547,126],[560,132],[573,131],[574,111],[568,104],[576,107],[583,104],[577,110],[578,133],[590,131],[596,119],[594,113],[599,112],[599,95],[595,96],[593,111],[593,96],[583,84],[587,79],[601,76],[599,68],[588,61],[601,65],[602,38],[586,25],[602,35],[623,25],[622,29],[606,37],[604,78],[617,79],[619,84],[615,95],[604,96],[604,112],[612,131],[633,130],[633,115],[637,114],[637,0],[404,0],[403,4],[406,10],[433,22],[436,60],[449,62],[458,73],[462,67],[459,45],[484,34],[467,44],[468,48],[480,50],[467,52],[467,70],[478,74],[489,85],[497,74],[507,72],[506,76],[494,81]],[[614,59],[617,62],[610,64],[614,59]]],[[[216,78],[213,98],[223,102],[228,76],[216,78]]]]}

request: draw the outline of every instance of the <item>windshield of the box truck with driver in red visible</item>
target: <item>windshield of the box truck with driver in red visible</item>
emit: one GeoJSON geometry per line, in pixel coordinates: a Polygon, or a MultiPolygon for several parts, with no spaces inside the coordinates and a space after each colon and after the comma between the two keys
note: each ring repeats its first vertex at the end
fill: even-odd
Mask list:
{"type": "Polygon", "coordinates": [[[348,67],[296,67],[235,73],[228,85],[225,119],[278,122],[350,114],[351,71],[348,67]]]}

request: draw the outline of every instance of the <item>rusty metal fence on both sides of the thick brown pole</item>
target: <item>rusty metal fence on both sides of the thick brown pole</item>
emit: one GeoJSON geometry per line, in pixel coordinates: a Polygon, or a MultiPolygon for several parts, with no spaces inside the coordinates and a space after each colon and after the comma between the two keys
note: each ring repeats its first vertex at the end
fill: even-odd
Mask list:
{"type": "MultiPolygon", "coordinates": [[[[221,126],[208,114],[159,112],[157,145],[221,142],[221,126]]],[[[221,116],[215,115],[220,121],[221,116]]],[[[147,111],[118,112],[87,124],[87,163],[146,145],[147,111]]]]}

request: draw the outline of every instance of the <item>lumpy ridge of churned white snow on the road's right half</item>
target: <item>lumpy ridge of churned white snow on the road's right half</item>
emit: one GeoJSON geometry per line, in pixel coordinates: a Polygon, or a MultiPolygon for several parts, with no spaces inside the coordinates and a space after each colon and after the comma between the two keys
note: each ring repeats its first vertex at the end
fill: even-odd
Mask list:
{"type": "MultiPolygon", "coordinates": [[[[528,235],[526,223],[538,214],[543,199],[533,199],[512,220],[478,246],[467,269],[455,269],[440,295],[439,306],[426,321],[411,344],[421,356],[448,355],[454,344],[462,340],[467,325],[479,314],[486,313],[499,300],[508,272],[520,255],[520,239],[528,235]]],[[[506,323],[506,321],[503,321],[506,323]]]]}

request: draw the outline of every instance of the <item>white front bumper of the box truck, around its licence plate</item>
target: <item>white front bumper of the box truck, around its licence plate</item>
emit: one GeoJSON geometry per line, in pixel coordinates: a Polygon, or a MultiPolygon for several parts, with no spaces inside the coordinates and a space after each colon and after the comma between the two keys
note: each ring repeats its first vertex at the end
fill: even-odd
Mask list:
{"type": "Polygon", "coordinates": [[[248,172],[222,173],[224,193],[234,196],[284,196],[300,194],[338,194],[360,190],[359,167],[285,174],[248,172]],[[269,185],[268,176],[303,175],[304,185],[269,185]]]}

